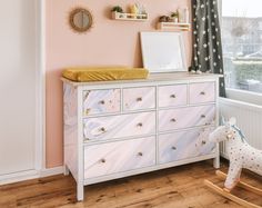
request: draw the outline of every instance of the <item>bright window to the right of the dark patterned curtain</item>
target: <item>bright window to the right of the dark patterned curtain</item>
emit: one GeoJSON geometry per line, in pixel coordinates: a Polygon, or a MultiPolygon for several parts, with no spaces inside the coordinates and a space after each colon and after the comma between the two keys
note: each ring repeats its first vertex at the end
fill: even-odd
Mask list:
{"type": "Polygon", "coordinates": [[[261,0],[222,0],[226,88],[262,93],[261,7],[261,0]]]}

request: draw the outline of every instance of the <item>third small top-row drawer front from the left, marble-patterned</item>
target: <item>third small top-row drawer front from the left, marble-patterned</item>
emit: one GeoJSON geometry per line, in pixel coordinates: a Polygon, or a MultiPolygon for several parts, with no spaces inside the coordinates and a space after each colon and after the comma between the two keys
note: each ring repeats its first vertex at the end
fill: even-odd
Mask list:
{"type": "Polygon", "coordinates": [[[161,86],[159,87],[159,107],[185,106],[188,102],[188,86],[161,86]]]}

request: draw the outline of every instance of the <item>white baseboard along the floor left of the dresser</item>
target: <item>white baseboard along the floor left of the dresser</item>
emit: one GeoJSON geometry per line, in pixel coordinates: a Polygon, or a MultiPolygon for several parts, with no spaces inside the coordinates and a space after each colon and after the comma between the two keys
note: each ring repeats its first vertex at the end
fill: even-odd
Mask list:
{"type": "Polygon", "coordinates": [[[0,176],[0,186],[20,182],[24,180],[37,179],[37,178],[44,178],[49,176],[56,176],[60,174],[63,174],[63,166],[49,168],[49,169],[42,169],[42,170],[28,170],[28,171],[14,172],[10,175],[3,175],[3,176],[0,176]]]}

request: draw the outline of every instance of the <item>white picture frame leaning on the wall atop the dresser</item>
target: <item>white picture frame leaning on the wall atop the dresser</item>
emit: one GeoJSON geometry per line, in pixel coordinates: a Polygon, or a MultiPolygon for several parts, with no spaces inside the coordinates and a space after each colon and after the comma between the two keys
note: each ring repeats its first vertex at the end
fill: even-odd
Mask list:
{"type": "Polygon", "coordinates": [[[150,72],[188,71],[181,32],[141,32],[143,67],[150,72]]]}

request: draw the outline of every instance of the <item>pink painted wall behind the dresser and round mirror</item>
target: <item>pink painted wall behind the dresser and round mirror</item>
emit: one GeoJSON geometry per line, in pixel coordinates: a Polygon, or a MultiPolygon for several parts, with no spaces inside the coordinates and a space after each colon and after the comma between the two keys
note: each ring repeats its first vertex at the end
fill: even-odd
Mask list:
{"type": "MultiPolygon", "coordinates": [[[[159,16],[178,8],[190,8],[190,0],[140,0],[149,13],[147,22],[113,21],[110,8],[123,8],[128,0],[47,0],[47,167],[63,164],[61,71],[70,66],[142,67],[139,32],[154,31],[159,16]],[[68,24],[71,9],[88,8],[94,19],[90,32],[79,34],[68,24]]],[[[191,33],[184,32],[188,63],[191,59],[191,33]]]]}

